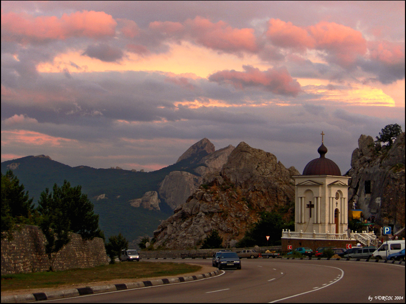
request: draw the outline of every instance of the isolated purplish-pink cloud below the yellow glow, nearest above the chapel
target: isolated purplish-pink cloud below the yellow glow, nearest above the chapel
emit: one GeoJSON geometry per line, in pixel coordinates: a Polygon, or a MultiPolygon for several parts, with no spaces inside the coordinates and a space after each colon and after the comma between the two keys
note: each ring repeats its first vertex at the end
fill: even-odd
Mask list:
{"type": "Polygon", "coordinates": [[[289,74],[286,67],[269,68],[260,71],[252,66],[243,66],[244,71],[223,70],[210,75],[209,80],[233,85],[243,90],[248,87],[259,87],[279,95],[297,96],[301,91],[300,84],[289,74]]]}

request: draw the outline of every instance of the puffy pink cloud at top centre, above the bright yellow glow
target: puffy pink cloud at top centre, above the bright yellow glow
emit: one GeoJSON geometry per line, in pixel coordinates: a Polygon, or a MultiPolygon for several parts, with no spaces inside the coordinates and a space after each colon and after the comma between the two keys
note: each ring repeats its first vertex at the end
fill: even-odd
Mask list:
{"type": "Polygon", "coordinates": [[[197,16],[185,22],[192,40],[207,48],[224,52],[255,52],[257,50],[254,29],[232,28],[223,21],[212,23],[197,16]]]}

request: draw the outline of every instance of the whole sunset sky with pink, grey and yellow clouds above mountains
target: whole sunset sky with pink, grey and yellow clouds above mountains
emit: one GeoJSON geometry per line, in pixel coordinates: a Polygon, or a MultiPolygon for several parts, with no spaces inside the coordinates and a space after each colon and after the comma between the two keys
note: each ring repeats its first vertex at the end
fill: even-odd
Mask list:
{"type": "Polygon", "coordinates": [[[404,1],[2,1],[1,160],[153,171],[208,138],[342,174],[404,131],[404,1]]]}

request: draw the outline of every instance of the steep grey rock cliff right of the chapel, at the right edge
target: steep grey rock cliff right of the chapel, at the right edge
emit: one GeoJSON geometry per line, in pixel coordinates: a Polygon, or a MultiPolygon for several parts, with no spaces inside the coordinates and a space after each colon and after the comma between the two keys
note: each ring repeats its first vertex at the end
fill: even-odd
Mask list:
{"type": "Polygon", "coordinates": [[[383,147],[361,135],[347,175],[350,206],[355,201],[364,218],[375,216],[378,224],[395,225],[395,231],[404,227],[404,132],[383,147]]]}

